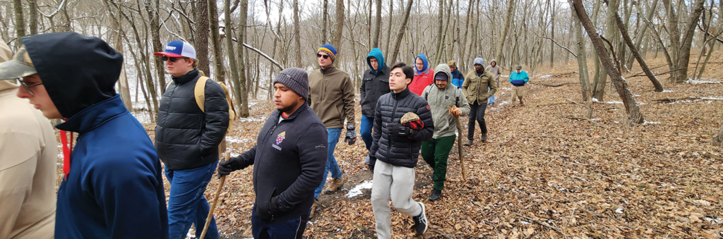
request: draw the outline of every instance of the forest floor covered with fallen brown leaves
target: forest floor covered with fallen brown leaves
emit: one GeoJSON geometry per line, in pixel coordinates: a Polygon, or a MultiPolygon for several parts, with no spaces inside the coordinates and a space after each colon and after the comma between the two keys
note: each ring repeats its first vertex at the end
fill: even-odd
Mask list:
{"type": "MultiPolygon", "coordinates": [[[[634,125],[625,123],[609,87],[585,119],[586,108],[570,101],[583,103],[575,61],[530,74],[525,106],[509,103],[511,86],[501,77],[497,103],[485,115],[489,139],[464,147],[467,180],[455,145],[442,200],[429,201],[432,169],[419,160],[413,197],[426,205],[429,230],[416,238],[723,237],[723,148],[711,145],[723,121],[722,61],[716,51],[703,74],[707,83],[671,84],[664,58],[650,57],[664,92],[654,92],[636,64],[624,76],[646,123],[634,125]]],[[[270,101],[253,103],[251,116],[226,138],[234,155],[256,144],[273,110],[270,101]]],[[[358,121],[358,105],[356,112],[358,121]]],[[[155,126],[145,127],[153,138],[155,126]]],[[[366,155],[361,139],[351,146],[340,139],[335,157],[346,183],[320,196],[304,238],[376,237],[371,189],[348,194],[372,180],[366,155]]],[[[218,182],[214,176],[208,186],[209,201],[218,182]]],[[[166,196],[168,188],[166,182],[166,196]]],[[[215,211],[223,238],[252,238],[253,202],[252,168],[229,175],[215,211]]],[[[413,224],[392,210],[393,238],[415,238],[413,224]]]]}

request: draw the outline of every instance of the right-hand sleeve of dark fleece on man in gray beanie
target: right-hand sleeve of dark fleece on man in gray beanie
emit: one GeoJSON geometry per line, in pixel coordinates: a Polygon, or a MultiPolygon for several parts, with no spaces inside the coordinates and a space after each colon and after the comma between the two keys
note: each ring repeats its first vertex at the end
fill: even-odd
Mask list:
{"type": "Polygon", "coordinates": [[[286,191],[279,194],[279,211],[286,212],[301,204],[321,184],[324,179],[326,156],[328,153],[328,132],[320,123],[313,123],[299,136],[296,141],[299,152],[301,175],[296,178],[286,191]],[[323,147],[319,147],[323,145],[323,147]]]}

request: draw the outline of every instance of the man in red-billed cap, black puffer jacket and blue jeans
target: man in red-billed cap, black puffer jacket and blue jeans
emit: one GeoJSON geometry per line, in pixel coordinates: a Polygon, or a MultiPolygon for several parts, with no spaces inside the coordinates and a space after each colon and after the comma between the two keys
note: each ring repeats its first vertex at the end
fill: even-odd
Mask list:
{"type": "MultiPolygon", "coordinates": [[[[210,209],[203,192],[218,164],[218,144],[228,129],[226,94],[211,79],[197,84],[202,76],[196,69],[196,50],[191,44],[174,40],[166,45],[166,51],[153,55],[162,56],[172,79],[161,97],[155,126],[155,147],[171,183],[170,238],[185,238],[191,225],[196,225],[196,238],[200,238],[210,209]],[[196,87],[204,89],[202,104],[196,102],[196,87]]],[[[218,238],[215,219],[206,238],[218,238]]]]}

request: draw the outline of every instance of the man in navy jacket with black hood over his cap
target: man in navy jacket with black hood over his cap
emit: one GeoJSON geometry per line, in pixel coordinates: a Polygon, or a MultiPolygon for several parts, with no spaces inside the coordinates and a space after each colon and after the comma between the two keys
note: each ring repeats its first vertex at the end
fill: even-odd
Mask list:
{"type": "Polygon", "coordinates": [[[56,125],[64,142],[64,131],[78,133],[74,149],[63,145],[55,238],[168,238],[161,162],[114,90],[121,53],[75,32],[21,40],[15,61],[0,64],[17,68],[0,79],[22,77],[18,97],[47,118],[66,119],[56,125]]]}

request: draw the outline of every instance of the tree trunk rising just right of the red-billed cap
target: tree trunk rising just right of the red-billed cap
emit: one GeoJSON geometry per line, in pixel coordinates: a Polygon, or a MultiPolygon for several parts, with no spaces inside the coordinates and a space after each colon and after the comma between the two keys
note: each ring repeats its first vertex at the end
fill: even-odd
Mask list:
{"type": "Polygon", "coordinates": [[[196,60],[198,60],[198,69],[208,74],[208,1],[194,1],[196,1],[196,42],[194,43],[196,60]]]}

